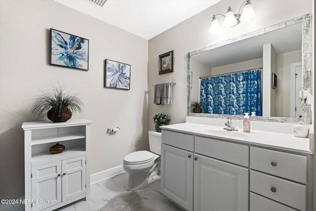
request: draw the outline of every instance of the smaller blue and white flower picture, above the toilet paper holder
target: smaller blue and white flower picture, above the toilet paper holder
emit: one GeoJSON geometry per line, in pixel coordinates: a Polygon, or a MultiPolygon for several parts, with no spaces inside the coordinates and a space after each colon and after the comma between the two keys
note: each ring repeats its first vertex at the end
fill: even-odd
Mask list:
{"type": "Polygon", "coordinates": [[[121,62],[105,60],[105,87],[129,90],[130,65],[121,62]]]}

